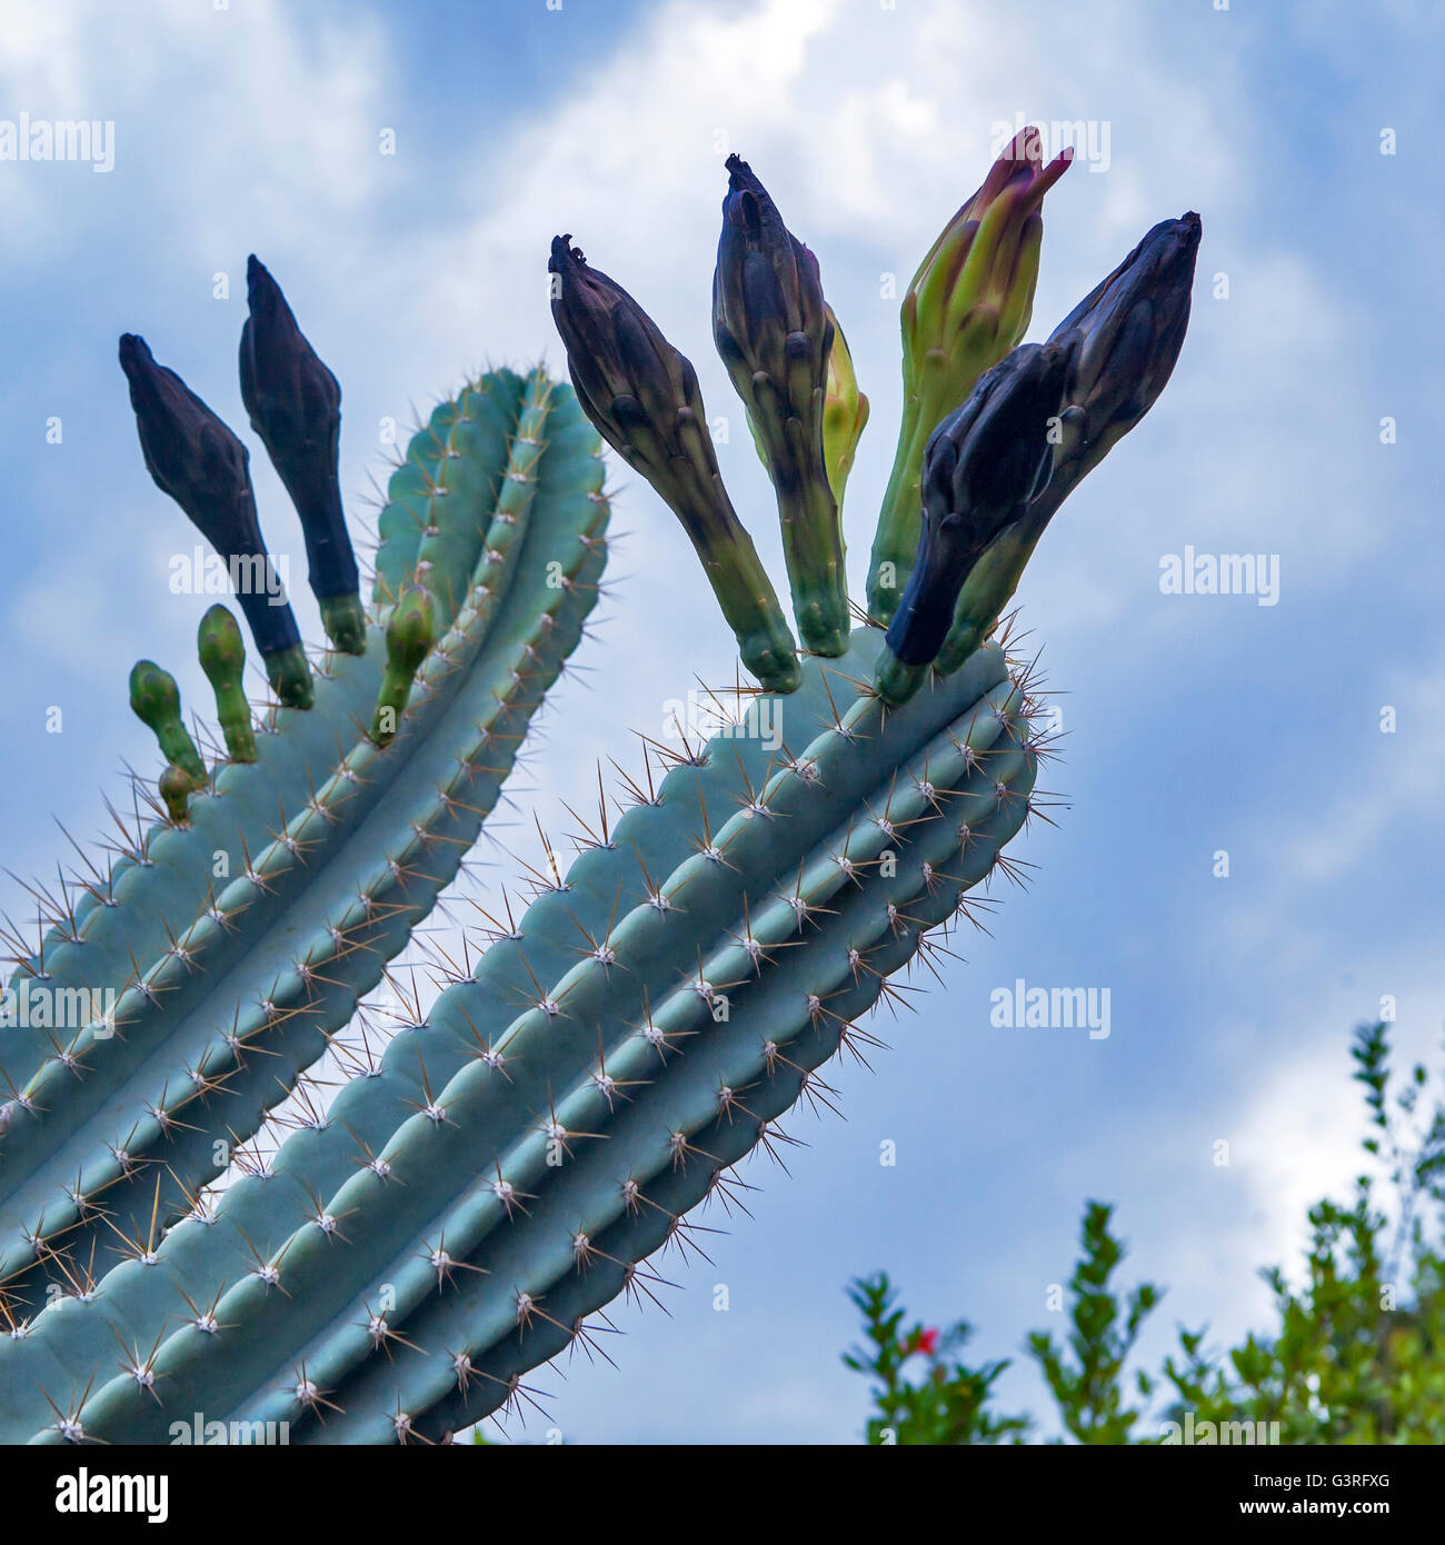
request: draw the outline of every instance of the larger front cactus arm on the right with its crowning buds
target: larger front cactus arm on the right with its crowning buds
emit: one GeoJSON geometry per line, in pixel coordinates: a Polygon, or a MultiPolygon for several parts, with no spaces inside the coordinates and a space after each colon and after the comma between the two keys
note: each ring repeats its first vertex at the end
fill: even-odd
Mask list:
{"type": "MultiPolygon", "coordinates": [[[[776,1122],[801,1098],[830,1098],[818,1069],[875,1044],[859,1018],[896,1000],[896,972],[940,969],[940,939],[974,916],[969,891],[995,871],[1020,878],[1003,848],[1042,813],[1046,745],[1035,678],[1006,638],[988,640],[1022,569],[1017,544],[998,544],[1042,531],[1158,396],[1187,320],[1182,267],[1131,255],[1048,346],[1009,352],[1011,335],[992,368],[1001,324],[975,318],[986,337],[954,362],[952,396],[930,379],[933,433],[904,426],[907,447],[926,440],[904,604],[838,637],[838,510],[865,399],[848,362],[830,369],[841,329],[816,260],[751,170],[728,170],[725,219],[753,246],[725,229],[714,326],[774,479],[814,647],[797,655],[722,487],[691,363],[558,236],[552,304],[576,402],[683,522],[760,686],[739,689],[742,709],[716,695],[706,745],[651,748],[614,799],[621,819],[604,794],[566,874],[549,847],[525,912],[508,904],[474,967],[450,970],[380,1061],[272,1159],[99,1279],[57,1253],[79,1290],[0,1344],[0,1378],[37,1392],[0,1417],[0,1438],[162,1443],[199,1411],[284,1421],[291,1441],[437,1441],[529,1400],[527,1370],[593,1347],[589,1316],[617,1295],[651,1296],[646,1261],[686,1247],[691,1208],[726,1199],[751,1149],[785,1142],[776,1122]],[[978,637],[950,658],[964,626],[978,637]]],[[[1011,209],[1012,227],[995,221],[1001,233],[984,221],[975,246],[991,263],[1012,244],[991,283],[1009,281],[1020,244],[1037,258],[1035,205],[1011,209]]],[[[1192,270],[1198,219],[1171,226],[1192,270]]],[[[933,306],[958,304],[950,283],[929,280],[933,306]]],[[[1032,272],[1018,283],[1031,294],[1032,272]]],[[[1009,304],[1005,331],[1022,331],[1018,297],[1009,304]]],[[[893,493],[913,476],[895,468],[893,493]]],[[[544,465],[539,505],[546,490],[544,465]]],[[[394,480],[391,511],[403,493],[394,480]]],[[[413,528],[406,548],[391,511],[377,569],[397,599],[385,684],[374,644],[368,688],[382,708],[405,695],[467,572],[451,533],[417,542],[413,528]]],[[[896,514],[895,499],[884,547],[896,514]]]]}

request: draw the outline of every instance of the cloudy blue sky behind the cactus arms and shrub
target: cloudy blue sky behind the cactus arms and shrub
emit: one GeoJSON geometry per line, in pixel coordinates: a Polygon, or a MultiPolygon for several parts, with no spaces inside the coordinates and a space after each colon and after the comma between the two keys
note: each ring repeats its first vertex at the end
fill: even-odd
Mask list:
{"type": "MultiPolygon", "coordinates": [[[[1048,198],[1031,335],[1154,221],[1198,209],[1204,246],[1175,380],[1020,590],[1065,694],[1051,782],[1069,808],[1020,845],[1037,878],[1003,895],[992,938],[960,946],[967,964],[916,1015],[873,1026],[892,1043],[875,1074],[838,1071],[847,1120],[790,1125],[810,1145],[791,1177],[745,1170],[754,1219],[716,1239],[714,1265],[671,1265],[672,1318],[620,1310],[618,1370],[547,1383],[569,1440],[853,1440],[845,1279],[886,1265],[921,1316],[967,1316],[975,1350],[1015,1353],[1028,1329],[1059,1329],[1045,1293],[1085,1196],[1117,1202],[1131,1268],[1168,1287],[1153,1346],[1175,1321],[1261,1324],[1253,1267],[1289,1261],[1304,1204],[1358,1166],[1351,1024],[1389,995],[1402,1044],[1431,1052],[1445,1010],[1442,32],[1423,0],[144,0],[124,15],[0,0],[0,117],[116,125],[105,175],[0,162],[5,865],[53,870],[45,814],[97,830],[122,762],[153,766],[125,703],[133,660],[202,700],[206,601],[165,586],[192,536],[141,465],[119,332],[243,423],[258,252],[342,380],[360,514],[382,419],[487,360],[559,362],[544,263],[570,230],[728,413],[708,295],[720,162],[739,150],[818,252],[873,400],[848,491],[858,593],[899,406],[881,277],[904,283],[981,181],[995,124],[1107,125],[1108,165],[1076,165],[1048,198]],[[377,150],[388,128],[394,156],[377,150]],[[1161,559],[1185,545],[1277,558],[1278,603],[1161,593],[1161,559]],[[45,732],[51,706],[62,734],[45,732]],[[994,1029],[989,993],[1020,976],[1108,987],[1110,1037],[994,1029]],[[882,1170],[889,1137],[899,1162],[882,1170]]],[[[780,573],[746,437],[720,454],[780,573]]],[[[300,576],[297,522],[255,465],[270,545],[300,576]]],[[[532,810],[566,830],[595,760],[635,760],[632,729],[657,734],[695,675],[731,674],[682,533],[615,480],[632,535],[589,672],[558,692],[516,794],[504,836],[524,859],[532,810]]],[[[23,908],[9,879],[0,904],[23,908]]],[[[1022,1366],[1003,1394],[1040,1403],[1022,1366]]]]}

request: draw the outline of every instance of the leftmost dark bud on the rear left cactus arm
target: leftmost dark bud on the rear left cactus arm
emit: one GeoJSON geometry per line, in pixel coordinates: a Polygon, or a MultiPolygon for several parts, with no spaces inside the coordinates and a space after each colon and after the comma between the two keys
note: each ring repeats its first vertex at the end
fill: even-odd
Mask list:
{"type": "Polygon", "coordinates": [[[121,337],[145,470],[226,559],[266,674],[283,703],[309,708],[311,671],[286,589],[277,573],[250,487],[246,447],[176,375],[156,365],[144,338],[121,337]]]}

